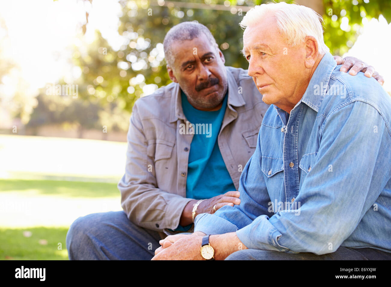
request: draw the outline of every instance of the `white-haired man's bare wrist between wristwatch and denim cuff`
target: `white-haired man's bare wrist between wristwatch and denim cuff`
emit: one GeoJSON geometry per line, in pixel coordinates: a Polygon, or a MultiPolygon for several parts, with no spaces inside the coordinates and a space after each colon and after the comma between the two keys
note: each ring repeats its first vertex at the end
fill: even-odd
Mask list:
{"type": "Polygon", "coordinates": [[[215,260],[224,260],[235,251],[248,249],[237,237],[236,232],[210,235],[210,246],[215,250],[215,260]]]}

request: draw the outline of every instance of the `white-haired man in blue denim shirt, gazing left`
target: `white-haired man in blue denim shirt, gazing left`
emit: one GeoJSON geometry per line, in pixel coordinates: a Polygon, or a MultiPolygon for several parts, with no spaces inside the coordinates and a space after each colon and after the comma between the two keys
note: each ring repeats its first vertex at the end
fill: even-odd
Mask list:
{"type": "Polygon", "coordinates": [[[244,16],[248,74],[271,107],[240,205],[200,214],[153,259],[391,259],[391,98],[339,71],[318,17],[284,2],[244,16]]]}

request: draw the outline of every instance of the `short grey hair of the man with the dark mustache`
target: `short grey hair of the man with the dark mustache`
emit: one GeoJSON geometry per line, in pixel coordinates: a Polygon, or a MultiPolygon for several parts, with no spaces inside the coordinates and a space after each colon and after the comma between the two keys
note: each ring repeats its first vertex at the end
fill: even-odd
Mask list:
{"type": "Polygon", "coordinates": [[[199,37],[201,33],[205,34],[212,46],[216,48],[216,51],[218,51],[219,46],[206,26],[198,23],[197,21],[182,22],[172,27],[164,37],[163,48],[167,64],[172,66],[175,61],[174,55],[172,55],[171,52],[172,43],[175,41],[192,40],[199,37]]]}

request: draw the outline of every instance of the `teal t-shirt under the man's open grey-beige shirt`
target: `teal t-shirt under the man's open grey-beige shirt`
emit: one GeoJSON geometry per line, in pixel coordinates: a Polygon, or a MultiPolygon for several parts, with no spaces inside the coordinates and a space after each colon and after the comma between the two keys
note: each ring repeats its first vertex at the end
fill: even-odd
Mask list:
{"type": "MultiPolygon", "coordinates": [[[[189,151],[186,197],[204,199],[236,190],[217,143],[227,107],[228,92],[224,96],[221,109],[212,112],[195,109],[183,91],[181,98],[183,113],[189,125],[195,125],[189,151]]],[[[178,226],[176,230],[187,231],[190,227],[191,225],[178,226]]]]}

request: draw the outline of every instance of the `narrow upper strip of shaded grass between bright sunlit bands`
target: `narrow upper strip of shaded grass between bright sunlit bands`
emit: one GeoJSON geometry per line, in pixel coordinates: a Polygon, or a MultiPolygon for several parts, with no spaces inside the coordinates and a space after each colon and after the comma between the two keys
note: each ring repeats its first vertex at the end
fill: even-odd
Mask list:
{"type": "Polygon", "coordinates": [[[0,192],[36,190],[39,194],[66,197],[119,196],[117,184],[106,182],[75,182],[63,180],[0,180],[0,192]]]}

